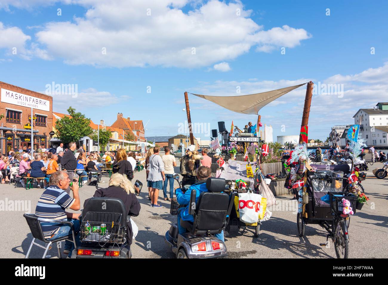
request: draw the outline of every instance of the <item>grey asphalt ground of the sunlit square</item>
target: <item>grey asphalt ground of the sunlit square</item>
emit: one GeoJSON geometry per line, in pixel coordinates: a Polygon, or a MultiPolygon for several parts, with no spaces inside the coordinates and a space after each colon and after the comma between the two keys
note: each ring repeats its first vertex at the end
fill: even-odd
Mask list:
{"type": "MultiPolygon", "coordinates": [[[[178,160],[177,160],[178,162],[178,160]]],[[[179,166],[179,162],[178,162],[179,166]]],[[[381,163],[369,166],[367,179],[362,182],[365,193],[371,200],[350,219],[349,258],[386,258],[388,257],[388,178],[374,178],[372,169],[381,168],[381,163]]],[[[176,168],[179,171],[179,168],[176,168]]],[[[159,192],[161,208],[149,205],[145,170],[136,172],[134,180],[139,179],[144,187],[138,197],[141,204],[140,215],[133,218],[139,226],[139,233],[132,244],[133,258],[174,258],[170,247],[165,244],[164,235],[177,217],[170,215],[170,202],[163,200],[159,192]]],[[[109,176],[103,176],[100,187],[107,187],[109,176]]],[[[178,183],[175,181],[175,186],[178,183]]],[[[0,203],[8,205],[1,208],[0,257],[24,258],[32,240],[32,235],[23,217],[25,212],[35,212],[43,189],[25,190],[19,184],[0,185],[0,203]],[[25,201],[19,208],[12,209],[16,201],[25,201]],[[23,207],[24,206],[24,207],[23,207]]],[[[84,185],[80,188],[81,205],[92,197],[95,187],[84,185]]],[[[319,244],[326,242],[327,232],[319,225],[307,225],[305,237],[300,238],[296,227],[296,201],[291,195],[277,196],[278,205],[272,208],[270,220],[262,223],[260,236],[254,237],[254,228],[232,226],[225,244],[230,258],[336,258],[334,246],[319,244]]],[[[43,244],[43,243],[41,243],[43,244]]],[[[34,246],[31,258],[41,258],[44,250],[34,246]]],[[[49,250],[50,258],[58,258],[55,245],[49,250]]]]}

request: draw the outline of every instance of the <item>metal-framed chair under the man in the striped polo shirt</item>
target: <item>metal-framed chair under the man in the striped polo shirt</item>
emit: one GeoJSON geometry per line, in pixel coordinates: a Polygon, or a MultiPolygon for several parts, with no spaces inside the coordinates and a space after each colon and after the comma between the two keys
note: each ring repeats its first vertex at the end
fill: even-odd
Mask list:
{"type": "Polygon", "coordinates": [[[43,254],[42,258],[45,258],[47,251],[50,248],[50,245],[54,244],[54,243],[57,243],[59,258],[62,258],[60,246],[58,244],[59,242],[62,242],[62,240],[69,240],[69,241],[73,242],[74,247],[77,247],[77,245],[75,243],[75,236],[76,235],[74,233],[73,223],[71,223],[69,221],[38,218],[35,214],[24,214],[23,217],[26,218],[29,229],[31,230],[31,234],[34,237],[31,241],[31,244],[29,245],[29,249],[27,251],[27,255],[25,258],[28,258],[29,254],[31,252],[32,245],[34,245],[34,244],[38,245],[38,247],[41,247],[42,249],[45,249],[45,253],[43,254]],[[60,238],[55,238],[54,240],[48,240],[43,235],[42,226],[40,225],[40,222],[52,222],[52,223],[57,223],[57,224],[68,225],[71,228],[72,236],[69,235],[68,237],[60,237],[60,238]],[[42,242],[44,242],[46,244],[46,247],[44,247],[43,245],[37,244],[35,242],[35,239],[38,239],[38,240],[41,240],[42,242]]]}

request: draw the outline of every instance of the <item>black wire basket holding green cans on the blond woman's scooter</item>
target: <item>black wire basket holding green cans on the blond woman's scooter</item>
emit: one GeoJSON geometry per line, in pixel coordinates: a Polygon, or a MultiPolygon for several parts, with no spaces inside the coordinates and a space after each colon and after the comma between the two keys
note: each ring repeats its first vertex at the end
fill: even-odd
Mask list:
{"type": "Polygon", "coordinates": [[[120,213],[87,212],[82,218],[80,235],[82,242],[120,243],[124,227],[120,213]]]}

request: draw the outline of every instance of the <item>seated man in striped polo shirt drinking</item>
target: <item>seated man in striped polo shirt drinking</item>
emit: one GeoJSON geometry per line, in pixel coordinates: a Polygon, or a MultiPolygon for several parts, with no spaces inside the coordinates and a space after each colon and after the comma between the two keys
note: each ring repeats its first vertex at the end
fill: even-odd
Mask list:
{"type": "MultiPolygon", "coordinates": [[[[73,198],[65,192],[70,184],[69,175],[66,171],[56,171],[50,176],[49,187],[42,193],[36,204],[35,215],[39,218],[68,220],[74,225],[76,234],[76,243],[80,244],[80,222],[78,216],[80,214],[66,212],[65,209],[78,211],[80,209],[80,196],[78,195],[78,182],[73,182],[70,188],[73,192],[73,198]]],[[[42,230],[45,238],[53,240],[59,237],[71,235],[71,228],[68,225],[56,223],[41,222],[42,230]]],[[[68,240],[65,242],[64,253],[68,253],[71,257],[71,252],[74,249],[74,244],[68,240]]]]}

